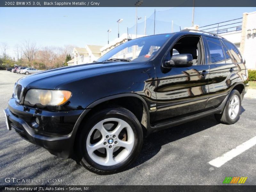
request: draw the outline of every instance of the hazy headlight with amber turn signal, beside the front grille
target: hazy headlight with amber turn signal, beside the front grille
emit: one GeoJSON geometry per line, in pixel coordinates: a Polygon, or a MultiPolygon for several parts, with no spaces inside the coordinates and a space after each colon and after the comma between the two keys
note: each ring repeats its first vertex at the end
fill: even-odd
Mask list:
{"type": "Polygon", "coordinates": [[[66,103],[70,97],[70,91],[29,89],[25,101],[28,101],[31,105],[39,103],[41,105],[59,106],[66,103]]]}

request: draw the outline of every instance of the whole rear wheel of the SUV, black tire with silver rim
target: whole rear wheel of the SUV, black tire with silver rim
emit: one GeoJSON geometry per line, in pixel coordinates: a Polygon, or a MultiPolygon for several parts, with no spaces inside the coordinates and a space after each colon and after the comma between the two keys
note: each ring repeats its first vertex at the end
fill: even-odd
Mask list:
{"type": "Polygon", "coordinates": [[[237,90],[232,90],[225,108],[221,114],[214,114],[216,120],[222,124],[234,124],[240,117],[241,96],[237,90]]]}

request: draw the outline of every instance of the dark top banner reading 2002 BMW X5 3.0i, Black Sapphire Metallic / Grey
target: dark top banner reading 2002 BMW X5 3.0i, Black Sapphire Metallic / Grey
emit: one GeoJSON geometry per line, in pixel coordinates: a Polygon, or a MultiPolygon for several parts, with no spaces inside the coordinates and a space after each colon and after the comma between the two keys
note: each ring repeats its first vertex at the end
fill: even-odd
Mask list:
{"type": "Polygon", "coordinates": [[[256,7],[255,0],[1,0],[0,7],[256,7]],[[137,3],[137,4],[136,4],[137,3]]]}

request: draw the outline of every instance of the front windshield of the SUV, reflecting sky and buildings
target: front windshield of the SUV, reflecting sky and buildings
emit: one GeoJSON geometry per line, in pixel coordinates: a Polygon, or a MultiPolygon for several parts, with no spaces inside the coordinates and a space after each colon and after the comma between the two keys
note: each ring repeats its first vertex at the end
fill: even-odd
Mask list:
{"type": "Polygon", "coordinates": [[[98,61],[148,61],[171,36],[161,34],[127,41],[107,52],[98,61]]]}

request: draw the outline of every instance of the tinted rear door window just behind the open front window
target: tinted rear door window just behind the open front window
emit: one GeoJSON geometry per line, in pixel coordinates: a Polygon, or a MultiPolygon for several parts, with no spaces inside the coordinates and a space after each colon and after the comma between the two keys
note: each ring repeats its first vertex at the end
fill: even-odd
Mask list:
{"type": "Polygon", "coordinates": [[[220,40],[212,37],[206,37],[206,41],[209,46],[211,63],[212,64],[225,63],[225,57],[223,54],[220,40]]]}

